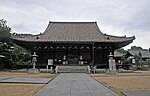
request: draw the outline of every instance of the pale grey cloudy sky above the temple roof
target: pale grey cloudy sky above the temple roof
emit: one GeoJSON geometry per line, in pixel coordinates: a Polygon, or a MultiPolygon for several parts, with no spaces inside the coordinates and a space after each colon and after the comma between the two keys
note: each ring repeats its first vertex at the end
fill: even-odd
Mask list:
{"type": "Polygon", "coordinates": [[[43,33],[49,21],[96,21],[102,33],[134,36],[125,47],[150,48],[150,0],[0,0],[12,33],[43,33]]]}

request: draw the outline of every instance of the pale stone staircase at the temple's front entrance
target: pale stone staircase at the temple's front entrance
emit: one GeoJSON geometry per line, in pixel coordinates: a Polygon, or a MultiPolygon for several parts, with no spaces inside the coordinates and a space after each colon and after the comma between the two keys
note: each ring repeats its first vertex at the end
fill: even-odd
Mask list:
{"type": "Polygon", "coordinates": [[[90,73],[89,66],[57,66],[56,73],[90,73]]]}

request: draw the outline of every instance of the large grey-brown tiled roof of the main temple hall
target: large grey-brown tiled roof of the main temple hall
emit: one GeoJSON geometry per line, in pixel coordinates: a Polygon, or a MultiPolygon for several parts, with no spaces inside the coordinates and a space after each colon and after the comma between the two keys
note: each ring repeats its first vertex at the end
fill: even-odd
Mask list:
{"type": "Polygon", "coordinates": [[[34,37],[13,38],[28,42],[123,42],[135,37],[117,37],[103,34],[96,22],[49,22],[43,34],[34,37]]]}

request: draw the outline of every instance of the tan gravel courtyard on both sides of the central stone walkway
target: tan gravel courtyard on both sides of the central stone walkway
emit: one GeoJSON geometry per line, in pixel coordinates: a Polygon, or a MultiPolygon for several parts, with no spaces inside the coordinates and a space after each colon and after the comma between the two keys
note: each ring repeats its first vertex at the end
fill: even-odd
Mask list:
{"type": "MultiPolygon", "coordinates": [[[[150,90],[150,71],[135,71],[134,73],[108,74],[89,74],[92,78],[102,83],[119,96],[124,92],[149,91],[150,90]]],[[[20,72],[0,72],[0,77],[15,78],[53,78],[56,74],[40,73],[27,74],[20,72]]],[[[46,84],[28,83],[0,83],[0,96],[33,96],[46,84]]]]}

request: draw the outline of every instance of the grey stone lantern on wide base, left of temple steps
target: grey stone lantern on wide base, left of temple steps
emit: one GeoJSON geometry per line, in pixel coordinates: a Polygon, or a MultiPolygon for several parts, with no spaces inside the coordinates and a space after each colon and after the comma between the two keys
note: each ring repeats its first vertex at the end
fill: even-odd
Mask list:
{"type": "Polygon", "coordinates": [[[33,53],[33,55],[31,55],[32,57],[32,65],[33,65],[33,68],[32,69],[29,69],[28,70],[28,73],[31,73],[31,74],[39,74],[40,71],[38,69],[36,69],[36,62],[37,62],[37,55],[36,55],[36,52],[33,53]]]}

